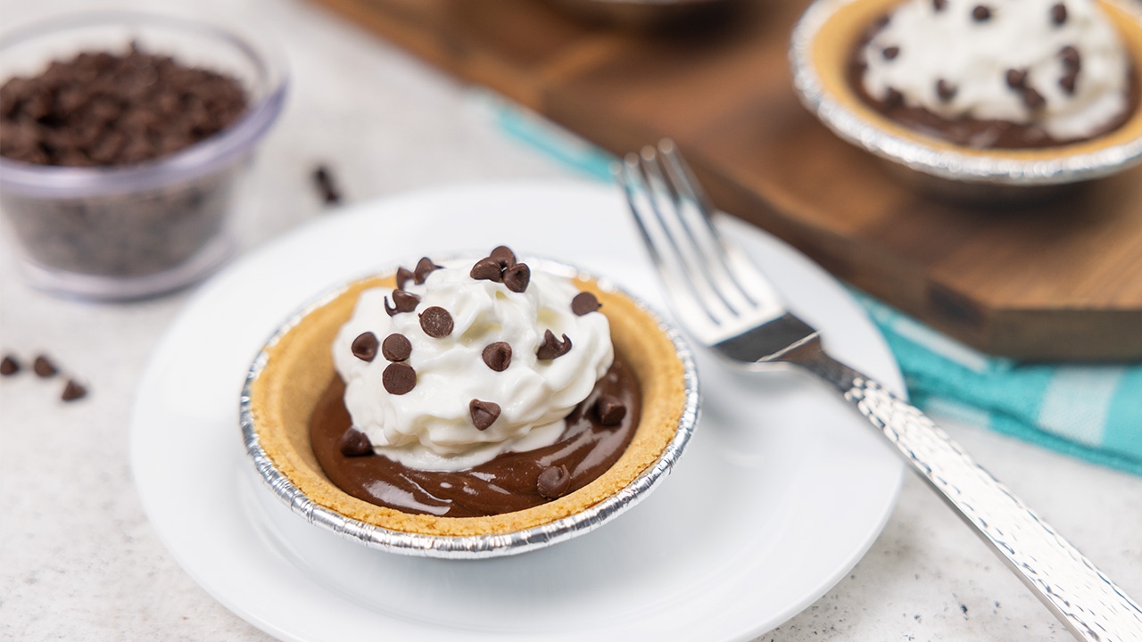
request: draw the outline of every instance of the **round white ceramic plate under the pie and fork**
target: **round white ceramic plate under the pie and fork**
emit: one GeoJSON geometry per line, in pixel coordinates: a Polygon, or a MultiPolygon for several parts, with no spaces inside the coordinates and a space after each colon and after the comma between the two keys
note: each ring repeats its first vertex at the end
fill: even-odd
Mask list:
{"type": "MultiPolygon", "coordinates": [[[[725,222],[841,359],[900,393],[860,307],[795,250],[725,222]]],[[[284,640],[748,640],[847,573],[879,533],[902,464],[863,419],[796,374],[699,354],[702,418],[674,473],[614,522],[513,557],[368,549],[308,524],[255,479],[238,426],[247,368],[330,286],[421,255],[506,243],[662,297],[618,191],[458,186],[364,203],[296,230],[209,281],[155,351],[131,420],[143,505],[218,601],[284,640]]]]}

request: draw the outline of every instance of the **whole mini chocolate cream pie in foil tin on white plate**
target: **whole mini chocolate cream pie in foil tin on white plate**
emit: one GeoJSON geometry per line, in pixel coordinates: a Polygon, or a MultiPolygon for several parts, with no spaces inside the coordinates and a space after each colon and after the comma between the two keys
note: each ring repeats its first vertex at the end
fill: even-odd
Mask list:
{"type": "Polygon", "coordinates": [[[560,263],[433,259],[287,320],[241,401],[271,495],[365,546],[490,557],[590,531],[654,489],[698,416],[677,331],[560,263]]]}

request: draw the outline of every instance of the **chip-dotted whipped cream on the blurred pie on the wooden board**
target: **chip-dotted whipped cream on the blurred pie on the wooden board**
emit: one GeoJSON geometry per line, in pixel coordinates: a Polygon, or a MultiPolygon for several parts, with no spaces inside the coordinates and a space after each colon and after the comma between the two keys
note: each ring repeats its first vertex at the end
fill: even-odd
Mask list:
{"type": "Polygon", "coordinates": [[[1128,107],[1129,59],[1093,0],[909,0],[864,46],[864,90],[946,119],[1102,133],[1128,107]]]}

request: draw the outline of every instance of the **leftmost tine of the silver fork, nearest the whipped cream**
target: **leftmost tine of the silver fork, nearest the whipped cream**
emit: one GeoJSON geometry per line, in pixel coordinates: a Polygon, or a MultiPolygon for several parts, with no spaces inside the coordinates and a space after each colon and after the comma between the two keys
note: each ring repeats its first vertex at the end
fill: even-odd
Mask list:
{"type": "Polygon", "coordinates": [[[666,286],[668,296],[673,299],[675,313],[684,324],[694,332],[717,330],[717,322],[709,315],[702,303],[694,296],[694,289],[682,266],[679,257],[673,252],[671,246],[665,240],[665,231],[654,214],[650,201],[650,191],[644,182],[637,154],[627,154],[625,162],[614,163],[611,174],[622,186],[627,204],[635,215],[638,231],[651,252],[654,267],[666,286]]]}

